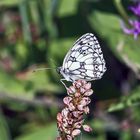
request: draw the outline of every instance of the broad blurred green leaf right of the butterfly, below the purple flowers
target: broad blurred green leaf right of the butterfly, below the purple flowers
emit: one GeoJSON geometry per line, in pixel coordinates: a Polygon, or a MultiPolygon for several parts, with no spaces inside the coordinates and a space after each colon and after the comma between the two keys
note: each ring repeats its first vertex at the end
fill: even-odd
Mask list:
{"type": "Polygon", "coordinates": [[[94,11],[89,16],[89,22],[120,60],[124,61],[125,57],[133,64],[140,64],[140,40],[123,33],[117,15],[94,11]]]}

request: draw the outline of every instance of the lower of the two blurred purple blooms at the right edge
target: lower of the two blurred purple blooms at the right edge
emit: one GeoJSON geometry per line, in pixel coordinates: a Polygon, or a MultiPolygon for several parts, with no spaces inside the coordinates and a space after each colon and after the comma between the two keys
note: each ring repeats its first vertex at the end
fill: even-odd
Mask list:
{"type": "Polygon", "coordinates": [[[131,28],[127,28],[124,23],[122,22],[122,29],[126,34],[133,34],[134,39],[137,39],[137,37],[140,35],[140,21],[138,20],[130,20],[129,21],[131,28]]]}

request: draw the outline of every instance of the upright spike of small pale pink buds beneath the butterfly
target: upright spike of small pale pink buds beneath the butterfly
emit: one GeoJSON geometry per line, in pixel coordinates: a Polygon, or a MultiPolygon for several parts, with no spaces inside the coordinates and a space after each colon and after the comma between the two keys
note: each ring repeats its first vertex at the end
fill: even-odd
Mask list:
{"type": "Polygon", "coordinates": [[[91,102],[89,96],[93,94],[91,83],[78,80],[67,89],[67,94],[63,99],[65,108],[57,114],[60,135],[57,140],[73,140],[81,133],[81,127],[87,132],[92,131],[90,126],[84,124],[84,114],[89,113],[88,104],[91,102]]]}

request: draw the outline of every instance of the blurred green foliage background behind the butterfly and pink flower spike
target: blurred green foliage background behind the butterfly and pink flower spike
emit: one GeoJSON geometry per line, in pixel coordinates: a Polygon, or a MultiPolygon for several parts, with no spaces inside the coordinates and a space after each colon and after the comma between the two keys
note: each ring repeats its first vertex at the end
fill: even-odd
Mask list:
{"type": "MultiPolygon", "coordinates": [[[[94,33],[107,64],[92,82],[82,140],[140,139],[140,39],[123,33],[123,0],[0,0],[0,140],[55,140],[66,90],[55,70],[81,35],[94,33]]],[[[68,83],[69,84],[69,83],[68,83]]],[[[80,138],[79,138],[80,139],[80,138]]]]}

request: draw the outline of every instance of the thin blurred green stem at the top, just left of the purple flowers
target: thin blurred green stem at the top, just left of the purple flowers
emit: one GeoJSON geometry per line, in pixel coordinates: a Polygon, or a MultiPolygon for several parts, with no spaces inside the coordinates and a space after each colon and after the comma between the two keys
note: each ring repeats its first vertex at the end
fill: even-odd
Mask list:
{"type": "Polygon", "coordinates": [[[122,6],[121,0],[114,0],[114,4],[124,21],[128,24],[128,26],[130,26],[129,17],[122,6]]]}

